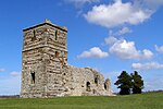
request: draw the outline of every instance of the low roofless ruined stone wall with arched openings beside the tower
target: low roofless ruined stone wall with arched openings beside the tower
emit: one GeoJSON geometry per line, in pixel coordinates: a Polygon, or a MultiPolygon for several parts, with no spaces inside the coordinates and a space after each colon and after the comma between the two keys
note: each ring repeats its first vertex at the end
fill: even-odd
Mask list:
{"type": "Polygon", "coordinates": [[[110,96],[111,84],[102,74],[91,68],[74,68],[68,65],[63,72],[65,95],[68,96],[110,96]]]}

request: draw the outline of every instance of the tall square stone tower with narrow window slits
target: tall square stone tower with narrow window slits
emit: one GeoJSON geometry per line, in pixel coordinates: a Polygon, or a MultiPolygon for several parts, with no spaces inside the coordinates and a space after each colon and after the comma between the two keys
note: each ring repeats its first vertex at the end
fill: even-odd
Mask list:
{"type": "Polygon", "coordinates": [[[23,29],[21,97],[61,96],[67,64],[67,28],[46,20],[23,29]]]}

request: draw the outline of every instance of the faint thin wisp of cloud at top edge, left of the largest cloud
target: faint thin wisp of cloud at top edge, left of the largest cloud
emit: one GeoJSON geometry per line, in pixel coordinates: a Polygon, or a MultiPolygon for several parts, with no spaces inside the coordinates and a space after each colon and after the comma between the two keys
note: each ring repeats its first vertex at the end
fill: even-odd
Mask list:
{"type": "Polygon", "coordinates": [[[73,3],[76,8],[80,8],[85,3],[99,2],[99,0],[64,0],[64,1],[73,3]]]}

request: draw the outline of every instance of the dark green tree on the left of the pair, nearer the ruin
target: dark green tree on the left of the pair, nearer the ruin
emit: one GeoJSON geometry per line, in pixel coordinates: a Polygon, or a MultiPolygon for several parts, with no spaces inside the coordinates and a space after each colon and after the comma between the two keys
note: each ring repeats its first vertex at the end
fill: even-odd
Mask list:
{"type": "Polygon", "coordinates": [[[130,75],[126,71],[123,71],[117,78],[114,84],[121,89],[120,95],[129,95],[133,85],[130,75]]]}

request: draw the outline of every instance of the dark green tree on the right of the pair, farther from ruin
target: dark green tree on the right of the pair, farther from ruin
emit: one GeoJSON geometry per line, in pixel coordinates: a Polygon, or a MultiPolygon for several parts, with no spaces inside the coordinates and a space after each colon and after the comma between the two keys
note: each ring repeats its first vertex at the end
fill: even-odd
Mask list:
{"type": "Polygon", "coordinates": [[[138,74],[137,71],[131,73],[131,80],[133,80],[133,94],[141,94],[142,88],[143,88],[143,80],[142,77],[138,74]]]}

